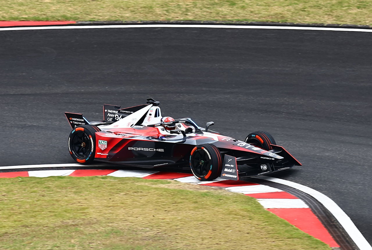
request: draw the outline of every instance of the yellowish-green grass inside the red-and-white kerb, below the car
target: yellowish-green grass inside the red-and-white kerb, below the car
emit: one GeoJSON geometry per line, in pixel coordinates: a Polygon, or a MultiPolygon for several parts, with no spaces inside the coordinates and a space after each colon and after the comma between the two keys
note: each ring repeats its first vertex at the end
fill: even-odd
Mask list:
{"type": "Polygon", "coordinates": [[[253,198],[169,180],[0,179],[0,249],[329,249],[253,198]]]}

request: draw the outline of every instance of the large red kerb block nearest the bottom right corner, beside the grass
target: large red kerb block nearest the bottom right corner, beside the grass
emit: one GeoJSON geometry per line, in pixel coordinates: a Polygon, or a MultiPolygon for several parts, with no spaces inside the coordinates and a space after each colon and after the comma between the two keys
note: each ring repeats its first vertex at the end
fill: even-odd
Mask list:
{"type": "Polygon", "coordinates": [[[275,213],[280,218],[323,241],[330,247],[340,247],[318,220],[317,216],[311,212],[310,208],[269,208],[266,210],[275,213]]]}

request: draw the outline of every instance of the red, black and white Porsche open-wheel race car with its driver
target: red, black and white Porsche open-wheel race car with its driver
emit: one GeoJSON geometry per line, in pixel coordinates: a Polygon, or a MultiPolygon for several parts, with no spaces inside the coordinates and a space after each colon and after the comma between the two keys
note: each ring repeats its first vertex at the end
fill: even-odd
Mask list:
{"type": "Polygon", "coordinates": [[[104,119],[95,122],[66,112],[72,158],[83,164],[187,167],[202,181],[238,180],[301,166],[267,132],[250,133],[243,142],[208,130],[212,121],[203,129],[191,118],[162,117],[159,105],[152,98],[129,108],[104,104],[104,119]]]}

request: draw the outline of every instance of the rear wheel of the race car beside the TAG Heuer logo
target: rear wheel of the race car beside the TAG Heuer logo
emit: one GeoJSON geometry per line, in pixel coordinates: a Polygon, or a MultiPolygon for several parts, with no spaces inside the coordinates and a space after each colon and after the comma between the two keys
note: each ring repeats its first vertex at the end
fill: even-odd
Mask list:
{"type": "Polygon", "coordinates": [[[82,164],[89,164],[96,154],[96,132],[101,131],[94,125],[82,125],[74,128],[68,136],[68,151],[71,157],[82,164]]]}

